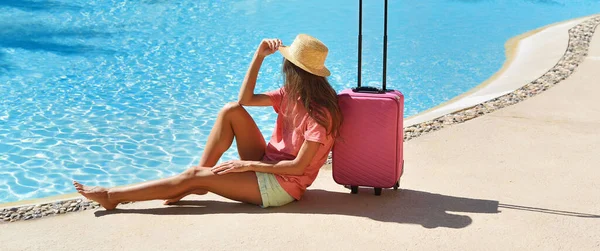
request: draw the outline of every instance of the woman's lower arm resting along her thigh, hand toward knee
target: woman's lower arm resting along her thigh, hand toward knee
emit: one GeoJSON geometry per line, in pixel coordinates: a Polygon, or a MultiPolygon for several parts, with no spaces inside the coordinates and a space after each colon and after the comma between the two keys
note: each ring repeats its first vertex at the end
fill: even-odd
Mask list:
{"type": "Polygon", "coordinates": [[[282,161],[227,161],[212,168],[216,174],[226,174],[229,172],[262,172],[283,175],[302,175],[304,169],[310,165],[310,162],[317,154],[321,143],[314,141],[304,141],[298,156],[293,160],[282,161]]]}

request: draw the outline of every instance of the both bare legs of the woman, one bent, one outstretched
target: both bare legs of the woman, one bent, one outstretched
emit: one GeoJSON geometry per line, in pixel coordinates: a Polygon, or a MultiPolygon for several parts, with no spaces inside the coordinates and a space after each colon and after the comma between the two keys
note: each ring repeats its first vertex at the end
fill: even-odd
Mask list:
{"type": "Polygon", "coordinates": [[[260,160],[264,155],[265,140],[250,114],[239,104],[229,103],[219,112],[211,130],[200,167],[156,181],[126,188],[87,187],[74,182],[77,191],[97,201],[107,210],[123,201],[164,199],[166,203],[179,201],[189,194],[207,191],[221,196],[254,204],[261,204],[258,182],[253,172],[214,175],[209,168],[217,164],[223,153],[236,139],[240,159],[260,160]],[[204,167],[202,167],[204,166],[204,167]]]}

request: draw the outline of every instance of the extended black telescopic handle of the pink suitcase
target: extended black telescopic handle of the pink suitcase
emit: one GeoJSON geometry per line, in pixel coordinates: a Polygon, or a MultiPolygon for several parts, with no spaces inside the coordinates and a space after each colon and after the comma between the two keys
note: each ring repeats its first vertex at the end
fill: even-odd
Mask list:
{"type": "Polygon", "coordinates": [[[384,14],[383,14],[383,79],[382,88],[361,86],[361,67],[362,67],[362,0],[358,0],[358,83],[357,88],[352,88],[354,92],[366,92],[366,93],[385,93],[386,88],[386,76],[387,76],[387,9],[388,0],[385,0],[384,14]]]}

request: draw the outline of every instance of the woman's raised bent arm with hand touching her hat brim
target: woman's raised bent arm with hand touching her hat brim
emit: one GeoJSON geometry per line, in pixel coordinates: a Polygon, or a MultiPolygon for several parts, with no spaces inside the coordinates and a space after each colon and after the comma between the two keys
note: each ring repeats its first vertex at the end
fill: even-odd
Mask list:
{"type": "Polygon", "coordinates": [[[275,53],[281,45],[279,39],[264,39],[252,58],[252,63],[246,72],[244,82],[240,88],[240,94],[238,95],[238,103],[246,106],[269,106],[271,99],[269,96],[264,94],[254,94],[254,87],[256,87],[256,79],[258,78],[258,72],[260,66],[264,61],[265,57],[275,53]]]}

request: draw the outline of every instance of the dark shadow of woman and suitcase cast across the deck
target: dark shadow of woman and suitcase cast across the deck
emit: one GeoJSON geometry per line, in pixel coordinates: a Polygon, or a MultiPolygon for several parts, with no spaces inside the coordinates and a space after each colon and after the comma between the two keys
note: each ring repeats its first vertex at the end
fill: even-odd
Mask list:
{"type": "Polygon", "coordinates": [[[372,189],[354,195],[326,190],[309,190],[301,201],[279,207],[257,206],[222,201],[181,201],[175,206],[149,209],[97,211],[96,216],[110,214],[201,215],[201,214],[332,214],[367,217],[382,222],[419,224],[425,228],[464,228],[473,221],[461,213],[496,214],[498,201],[453,197],[421,191],[385,190],[374,196],[372,189]]]}

